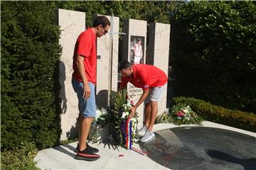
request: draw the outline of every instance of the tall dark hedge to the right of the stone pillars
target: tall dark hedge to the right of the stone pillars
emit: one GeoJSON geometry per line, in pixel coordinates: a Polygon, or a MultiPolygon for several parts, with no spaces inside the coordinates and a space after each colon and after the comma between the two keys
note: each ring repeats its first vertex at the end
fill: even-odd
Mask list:
{"type": "Polygon", "coordinates": [[[191,1],[171,18],[176,96],[256,113],[256,2],[191,1]]]}

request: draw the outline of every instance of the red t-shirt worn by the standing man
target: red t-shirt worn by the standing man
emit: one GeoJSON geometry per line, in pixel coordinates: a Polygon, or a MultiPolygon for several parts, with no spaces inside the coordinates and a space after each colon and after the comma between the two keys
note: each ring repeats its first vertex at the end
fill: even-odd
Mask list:
{"type": "Polygon", "coordinates": [[[73,55],[73,69],[72,74],[74,79],[82,81],[78,67],[75,64],[78,55],[85,57],[85,75],[88,81],[96,84],[96,71],[97,71],[97,55],[96,55],[96,35],[91,28],[80,33],[78,40],[75,42],[75,50],[73,55]]]}

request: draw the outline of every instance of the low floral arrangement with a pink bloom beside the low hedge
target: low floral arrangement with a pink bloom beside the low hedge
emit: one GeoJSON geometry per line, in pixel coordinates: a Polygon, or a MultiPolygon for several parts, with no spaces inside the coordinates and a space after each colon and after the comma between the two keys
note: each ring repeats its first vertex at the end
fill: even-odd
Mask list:
{"type": "Polygon", "coordinates": [[[200,124],[202,119],[192,111],[186,104],[177,104],[170,110],[172,122],[176,125],[181,124],[200,124]]]}

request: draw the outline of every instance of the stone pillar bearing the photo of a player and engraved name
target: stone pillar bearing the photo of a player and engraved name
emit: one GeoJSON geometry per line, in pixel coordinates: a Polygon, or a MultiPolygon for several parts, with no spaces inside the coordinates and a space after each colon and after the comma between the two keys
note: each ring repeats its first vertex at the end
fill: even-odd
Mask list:
{"type": "MultiPolygon", "coordinates": [[[[127,19],[124,21],[124,35],[122,40],[122,60],[127,60],[134,64],[134,45],[138,43],[138,40],[142,40],[142,60],[141,64],[145,64],[146,61],[146,21],[127,19]]],[[[129,95],[132,95],[134,103],[139,101],[142,95],[142,89],[136,88],[132,84],[127,84],[127,91],[129,95]]],[[[138,127],[142,127],[144,120],[144,103],[137,108],[139,113],[138,127]]]]}

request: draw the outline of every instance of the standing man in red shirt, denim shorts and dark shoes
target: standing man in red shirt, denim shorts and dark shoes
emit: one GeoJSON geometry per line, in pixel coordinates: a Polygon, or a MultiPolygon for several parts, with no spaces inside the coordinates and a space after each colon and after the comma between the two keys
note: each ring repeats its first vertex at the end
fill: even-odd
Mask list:
{"type": "Polygon", "coordinates": [[[98,149],[87,144],[92,121],[96,115],[95,84],[96,84],[96,38],[102,37],[110,29],[110,21],[106,16],[97,16],[88,28],[80,33],[73,55],[72,85],[78,94],[78,128],[79,140],[76,148],[76,159],[94,161],[100,158],[98,149]]]}

